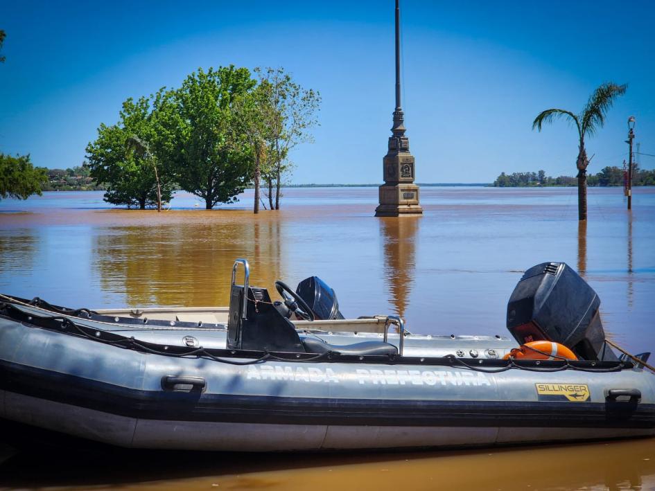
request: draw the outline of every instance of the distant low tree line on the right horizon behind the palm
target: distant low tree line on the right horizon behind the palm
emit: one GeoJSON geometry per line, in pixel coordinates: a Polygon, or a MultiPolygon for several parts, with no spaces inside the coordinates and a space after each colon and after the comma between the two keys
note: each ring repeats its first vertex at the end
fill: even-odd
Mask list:
{"type": "MultiPolygon", "coordinates": [[[[625,172],[616,166],[604,167],[600,172],[588,175],[588,186],[623,186],[625,172]]],[[[642,170],[634,164],[632,171],[633,186],[655,186],[655,170],[642,170]]],[[[577,186],[577,178],[570,176],[550,177],[543,170],[539,172],[501,172],[494,181],[496,188],[534,187],[534,186],[577,186]]]]}

